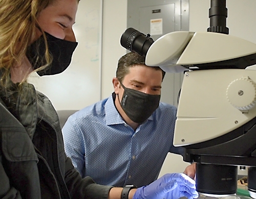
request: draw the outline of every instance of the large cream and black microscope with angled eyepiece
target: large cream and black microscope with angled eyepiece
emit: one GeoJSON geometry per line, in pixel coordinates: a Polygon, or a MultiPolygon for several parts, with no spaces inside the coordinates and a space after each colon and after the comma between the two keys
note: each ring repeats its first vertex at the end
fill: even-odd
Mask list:
{"type": "Polygon", "coordinates": [[[184,73],[174,146],[196,162],[197,191],[222,197],[237,191],[238,166],[248,166],[256,198],[256,44],[228,35],[225,0],[211,0],[207,32],[177,31],[156,41],[129,28],[121,46],[148,66],[184,73]]]}

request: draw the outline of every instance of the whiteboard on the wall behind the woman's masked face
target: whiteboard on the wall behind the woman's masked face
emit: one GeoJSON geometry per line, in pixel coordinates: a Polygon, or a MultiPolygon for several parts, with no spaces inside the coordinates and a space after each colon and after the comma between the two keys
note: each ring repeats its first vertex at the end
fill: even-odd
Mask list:
{"type": "Polygon", "coordinates": [[[28,78],[57,110],[81,109],[100,100],[102,1],[79,2],[73,26],[78,46],[69,68],[58,75],[40,77],[32,73],[28,78]]]}

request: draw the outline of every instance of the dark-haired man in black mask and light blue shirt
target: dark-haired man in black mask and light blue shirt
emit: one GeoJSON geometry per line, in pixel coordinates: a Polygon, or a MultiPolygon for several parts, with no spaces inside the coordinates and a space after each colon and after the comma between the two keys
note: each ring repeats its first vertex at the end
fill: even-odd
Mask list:
{"type": "Polygon", "coordinates": [[[160,102],[164,74],[127,53],[118,61],[112,96],[69,117],[65,150],[82,176],[141,187],[157,179],[168,152],[182,152],[173,146],[177,108],[160,102]]]}

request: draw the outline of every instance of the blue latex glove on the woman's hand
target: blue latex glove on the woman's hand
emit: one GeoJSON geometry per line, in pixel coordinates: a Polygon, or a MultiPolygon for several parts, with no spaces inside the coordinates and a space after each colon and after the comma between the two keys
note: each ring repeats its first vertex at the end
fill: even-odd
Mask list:
{"type": "Polygon", "coordinates": [[[198,197],[196,183],[184,173],[168,173],[150,185],[140,187],[133,199],[193,199],[198,197]]]}

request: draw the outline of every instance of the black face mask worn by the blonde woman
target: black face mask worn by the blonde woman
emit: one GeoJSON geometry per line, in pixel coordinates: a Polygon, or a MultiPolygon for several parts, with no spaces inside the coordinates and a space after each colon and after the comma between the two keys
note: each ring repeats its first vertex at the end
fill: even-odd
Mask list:
{"type": "MultiPolygon", "coordinates": [[[[43,76],[62,73],[68,68],[73,52],[78,43],[56,38],[47,32],[45,32],[45,34],[48,43],[48,50],[53,59],[52,63],[48,65],[48,67],[41,71],[37,71],[37,74],[43,76]]],[[[43,36],[40,36],[28,47],[26,55],[32,64],[33,69],[38,69],[42,65],[46,64],[45,52],[46,46],[43,36]]]]}

